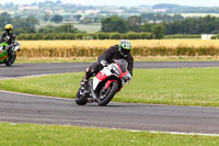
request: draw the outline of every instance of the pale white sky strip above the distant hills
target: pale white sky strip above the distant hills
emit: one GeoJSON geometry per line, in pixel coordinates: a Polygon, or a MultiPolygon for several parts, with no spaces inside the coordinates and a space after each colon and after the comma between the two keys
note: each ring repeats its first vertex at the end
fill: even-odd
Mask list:
{"type": "MultiPolygon", "coordinates": [[[[43,2],[45,0],[0,0],[0,3],[13,2],[20,4],[30,4],[33,2],[43,2]]],[[[56,0],[51,0],[56,1],[56,0]]],[[[193,7],[219,7],[219,0],[61,0],[62,3],[76,3],[83,5],[153,5],[158,3],[174,3],[193,7]]]]}

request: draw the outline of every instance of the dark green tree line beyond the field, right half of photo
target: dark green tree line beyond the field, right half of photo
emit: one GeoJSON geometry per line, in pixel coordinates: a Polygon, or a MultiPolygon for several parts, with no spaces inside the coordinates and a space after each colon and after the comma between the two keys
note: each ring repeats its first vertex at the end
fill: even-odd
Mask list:
{"type": "Polygon", "coordinates": [[[163,26],[160,29],[165,35],[170,34],[203,34],[203,33],[219,33],[219,18],[217,16],[204,16],[204,18],[187,18],[184,20],[177,20],[173,22],[161,22],[159,24],[142,23],[140,16],[130,16],[124,20],[119,16],[105,18],[102,21],[103,32],[153,32],[157,26],[163,26]]]}

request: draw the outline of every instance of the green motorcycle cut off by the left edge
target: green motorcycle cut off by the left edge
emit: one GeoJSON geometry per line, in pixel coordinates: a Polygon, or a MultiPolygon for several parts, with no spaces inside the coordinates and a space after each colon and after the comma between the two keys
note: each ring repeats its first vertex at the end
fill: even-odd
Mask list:
{"type": "Polygon", "coordinates": [[[14,42],[12,45],[9,45],[5,42],[0,43],[0,64],[5,64],[7,66],[12,66],[16,59],[16,52],[19,52],[19,50],[20,50],[20,44],[18,42],[14,42]],[[11,47],[11,49],[12,49],[11,57],[9,57],[9,55],[8,55],[9,47],[11,47]]]}

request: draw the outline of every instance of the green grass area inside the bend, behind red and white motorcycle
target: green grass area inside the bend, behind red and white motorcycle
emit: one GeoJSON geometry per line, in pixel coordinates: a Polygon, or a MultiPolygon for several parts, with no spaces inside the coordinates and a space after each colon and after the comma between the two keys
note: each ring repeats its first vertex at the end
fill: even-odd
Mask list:
{"type": "MultiPolygon", "coordinates": [[[[1,80],[0,89],[74,98],[84,72],[1,80]]],[[[113,101],[219,106],[219,68],[135,69],[113,101]]]]}

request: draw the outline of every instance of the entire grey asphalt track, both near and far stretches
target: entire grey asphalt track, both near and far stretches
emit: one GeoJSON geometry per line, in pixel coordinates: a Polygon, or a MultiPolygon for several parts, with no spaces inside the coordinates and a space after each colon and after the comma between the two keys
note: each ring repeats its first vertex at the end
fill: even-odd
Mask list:
{"type": "MultiPolygon", "coordinates": [[[[0,78],[83,71],[90,64],[15,64],[0,66],[0,78]]],[[[217,61],[136,63],[135,68],[219,67],[217,61]]],[[[79,106],[59,99],[0,91],[0,121],[62,124],[135,131],[219,134],[219,108],[95,103],[79,106]]]]}

